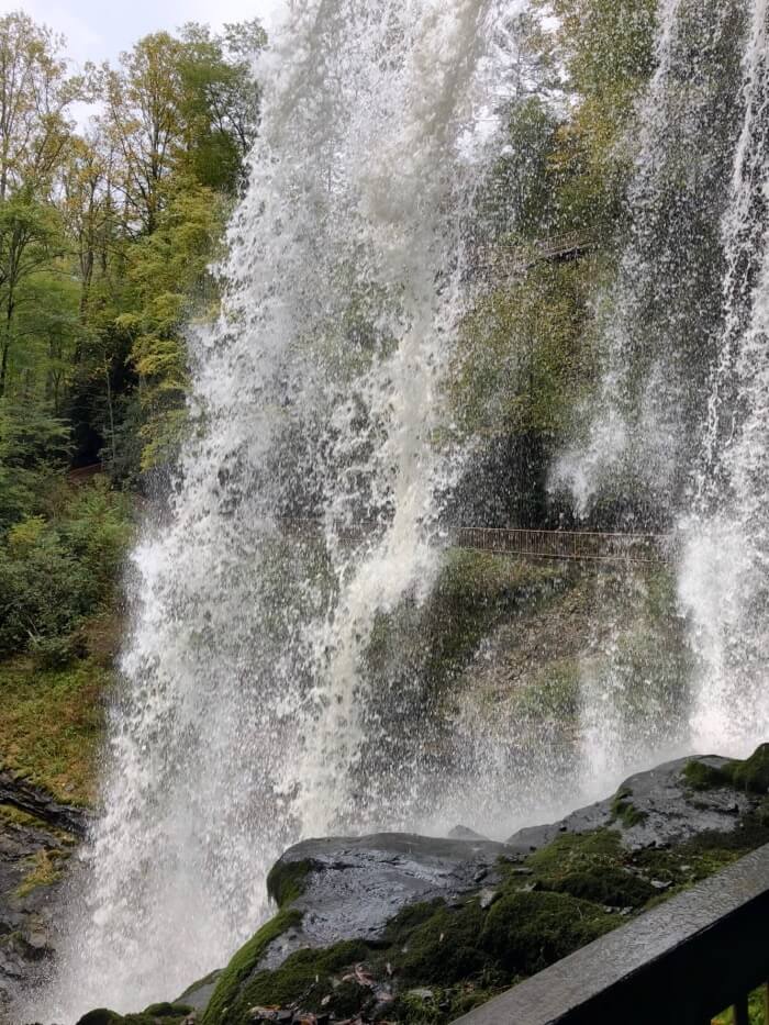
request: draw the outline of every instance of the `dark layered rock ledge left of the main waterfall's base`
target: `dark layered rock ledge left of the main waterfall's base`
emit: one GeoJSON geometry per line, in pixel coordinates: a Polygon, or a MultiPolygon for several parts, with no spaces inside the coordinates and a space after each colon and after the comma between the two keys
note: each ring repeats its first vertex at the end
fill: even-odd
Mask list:
{"type": "Polygon", "coordinates": [[[0,771],[0,1025],[18,1025],[10,1003],[54,956],[62,871],[86,813],[0,771]]]}

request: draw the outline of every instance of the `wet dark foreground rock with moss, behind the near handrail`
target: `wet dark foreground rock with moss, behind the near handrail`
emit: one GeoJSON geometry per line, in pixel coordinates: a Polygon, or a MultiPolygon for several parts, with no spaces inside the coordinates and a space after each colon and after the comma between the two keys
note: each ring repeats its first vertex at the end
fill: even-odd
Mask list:
{"type": "Polygon", "coordinates": [[[276,916],[175,1004],[80,1025],[450,1022],[769,843],[769,745],[631,777],[497,844],[457,828],[308,840],[268,880],[276,916]]]}

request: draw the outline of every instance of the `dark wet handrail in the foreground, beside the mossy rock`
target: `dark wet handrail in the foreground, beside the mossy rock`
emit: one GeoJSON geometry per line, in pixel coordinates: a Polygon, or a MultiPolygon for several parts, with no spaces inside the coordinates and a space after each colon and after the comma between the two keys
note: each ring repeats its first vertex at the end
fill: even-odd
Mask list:
{"type": "Polygon", "coordinates": [[[458,1023],[706,1025],[731,1007],[748,1025],[748,996],[762,988],[766,1000],[768,979],[769,845],[458,1023]]]}

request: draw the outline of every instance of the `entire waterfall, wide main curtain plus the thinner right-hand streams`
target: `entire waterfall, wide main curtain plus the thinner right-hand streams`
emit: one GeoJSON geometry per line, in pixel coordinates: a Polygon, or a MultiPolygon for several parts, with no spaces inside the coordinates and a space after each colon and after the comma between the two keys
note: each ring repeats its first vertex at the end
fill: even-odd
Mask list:
{"type": "MultiPolygon", "coordinates": [[[[32,1016],[135,1010],[221,967],[267,913],[267,869],[302,836],[434,824],[419,680],[413,693],[402,673],[375,684],[367,657],[380,616],[419,608],[438,569],[461,466],[442,428],[472,300],[478,125],[494,23],[513,8],[313,0],[291,5],[264,58],[223,313],[190,332],[192,437],[134,554],[103,811],[32,1016]]],[[[686,721],[669,700],[680,666],[638,712],[620,620],[597,638],[588,786],[692,737],[737,751],[769,727],[766,36],[767,0],[660,4],[631,238],[601,303],[600,415],[554,480],[583,512],[625,489],[659,517],[631,510],[631,525],[678,522],[698,680],[686,721]],[[710,56],[692,66],[696,52],[710,56]]],[[[565,789],[562,724],[524,736],[519,722],[515,744],[508,722],[488,726],[471,710],[457,723],[450,782],[475,776],[465,804],[504,790],[520,742],[519,811],[565,810],[584,780],[565,789]]]]}

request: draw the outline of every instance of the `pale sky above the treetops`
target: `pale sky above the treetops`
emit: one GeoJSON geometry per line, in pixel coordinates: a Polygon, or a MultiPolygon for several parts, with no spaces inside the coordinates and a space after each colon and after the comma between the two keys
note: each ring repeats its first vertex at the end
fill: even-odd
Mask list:
{"type": "Polygon", "coordinates": [[[282,5],[282,0],[0,0],[0,14],[22,10],[64,33],[78,70],[86,60],[114,63],[141,36],[187,21],[219,27],[260,18],[269,27],[282,5]]]}

